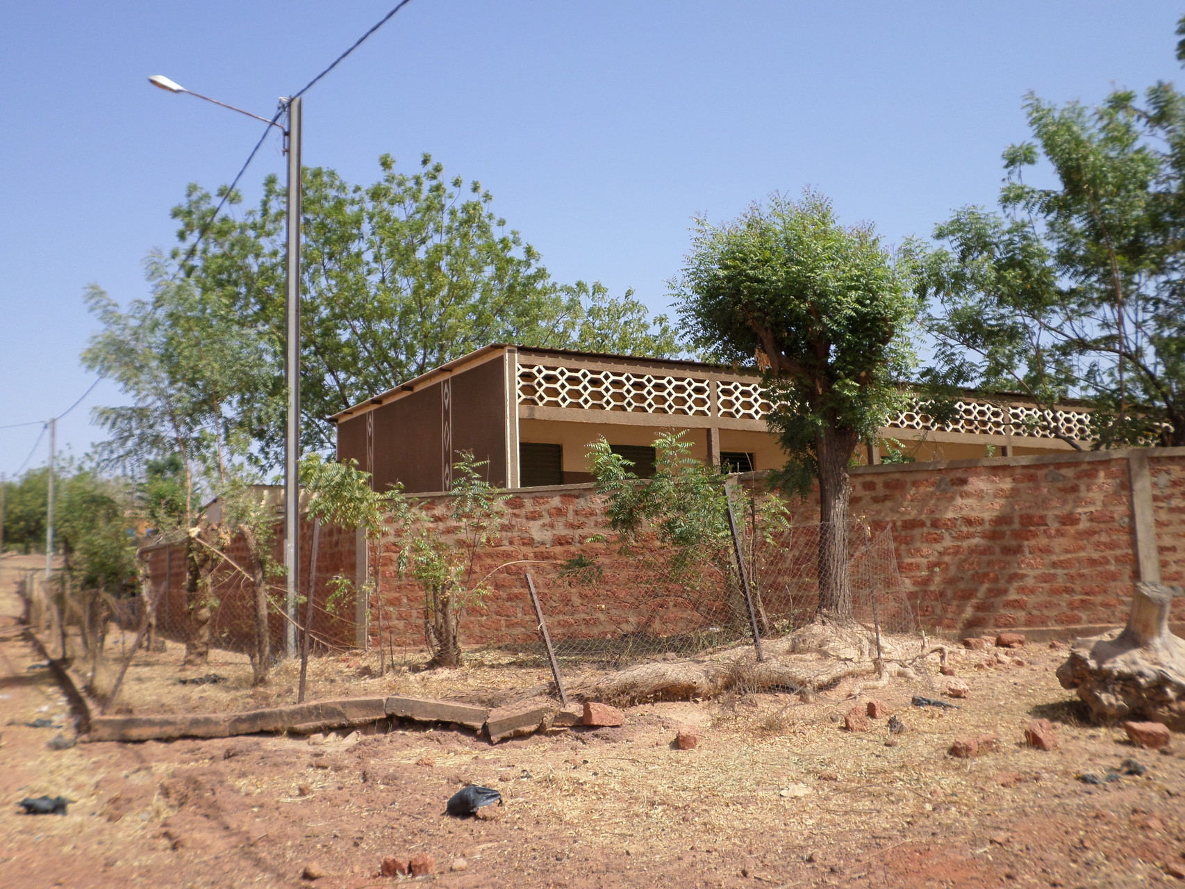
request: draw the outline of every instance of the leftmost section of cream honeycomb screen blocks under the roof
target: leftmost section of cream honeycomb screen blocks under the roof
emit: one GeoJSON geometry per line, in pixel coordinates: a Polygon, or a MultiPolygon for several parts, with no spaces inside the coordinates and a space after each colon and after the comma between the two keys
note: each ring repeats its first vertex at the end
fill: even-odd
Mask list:
{"type": "Polygon", "coordinates": [[[519,404],[538,408],[623,410],[639,414],[711,416],[711,389],[698,377],[519,365],[519,404]]]}

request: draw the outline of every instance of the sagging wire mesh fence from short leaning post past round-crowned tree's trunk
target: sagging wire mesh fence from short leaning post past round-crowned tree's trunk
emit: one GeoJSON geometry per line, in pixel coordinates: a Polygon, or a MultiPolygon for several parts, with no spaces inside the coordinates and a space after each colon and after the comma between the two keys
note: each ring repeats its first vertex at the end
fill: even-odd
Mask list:
{"type": "MultiPolygon", "coordinates": [[[[526,565],[561,683],[619,701],[802,692],[878,660],[916,666],[923,657],[889,529],[846,529],[831,588],[820,582],[826,525],[737,530],[739,561],[705,548],[702,558],[672,563],[639,548],[611,567],[579,558],[526,565]]],[[[523,577],[524,593],[526,584],[523,577]]],[[[542,634],[486,651],[520,664],[549,657],[542,634]]]]}

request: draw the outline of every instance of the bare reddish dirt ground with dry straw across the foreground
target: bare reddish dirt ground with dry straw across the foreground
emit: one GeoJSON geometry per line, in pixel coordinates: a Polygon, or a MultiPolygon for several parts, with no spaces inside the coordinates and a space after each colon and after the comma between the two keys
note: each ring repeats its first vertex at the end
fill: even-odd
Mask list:
{"type": "MultiPolygon", "coordinates": [[[[13,615],[6,580],[0,614],[13,615]]],[[[908,725],[895,747],[883,719],[869,733],[833,721],[866,699],[840,686],[812,704],[641,705],[620,729],[497,747],[446,729],[50,750],[70,731],[23,723],[69,724],[65,702],[46,670],[30,669],[12,618],[0,618],[0,885],[396,885],[377,876],[382,858],[417,852],[436,859],[442,889],[1177,884],[1185,741],[1148,753],[1083,724],[1053,678],[1064,648],[1017,653],[1025,665],[960,655],[971,696],[957,711],[910,706],[917,689],[901,680],[871,692],[908,725]],[[986,660],[994,665],[976,667],[986,660]],[[1033,716],[1053,721],[1061,749],[1021,746],[1033,716]],[[699,728],[698,748],[672,748],[680,724],[699,728]],[[980,733],[998,735],[999,752],[947,754],[954,737],[980,733]],[[1128,756],[1147,774],[1103,786],[1077,778],[1128,756]],[[466,781],[501,791],[500,818],[443,814],[466,781]],[[70,813],[19,814],[19,799],[41,794],[70,798],[70,813]],[[325,876],[303,880],[306,865],[325,876]]],[[[326,683],[335,697],[378,693],[356,686],[357,658],[319,670],[338,678],[326,683]]],[[[513,672],[365,682],[498,689],[513,672]]],[[[199,687],[211,709],[250,698],[199,687]]]]}

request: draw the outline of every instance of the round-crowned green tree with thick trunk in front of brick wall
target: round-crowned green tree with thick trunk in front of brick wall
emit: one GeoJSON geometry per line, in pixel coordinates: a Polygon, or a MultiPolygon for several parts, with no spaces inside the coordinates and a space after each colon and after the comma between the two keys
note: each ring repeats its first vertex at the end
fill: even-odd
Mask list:
{"type": "Polygon", "coordinates": [[[819,612],[850,614],[847,469],[857,444],[904,401],[917,314],[908,270],[870,225],[840,225],[812,191],[780,194],[739,218],[698,219],[673,282],[679,314],[706,353],[763,371],[769,427],[793,490],[819,484],[819,612]]]}

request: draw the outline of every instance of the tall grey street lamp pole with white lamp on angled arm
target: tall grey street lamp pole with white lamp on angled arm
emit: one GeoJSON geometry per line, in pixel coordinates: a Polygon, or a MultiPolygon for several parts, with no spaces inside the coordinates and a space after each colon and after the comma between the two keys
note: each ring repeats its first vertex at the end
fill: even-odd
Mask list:
{"type": "Polygon", "coordinates": [[[284,128],[275,120],[244,111],[242,108],[185,89],[164,75],[153,75],[148,83],[168,92],[188,92],[216,105],[245,114],[257,121],[278,127],[288,140],[288,247],[287,288],[284,296],[284,383],[288,390],[288,422],[284,426],[284,573],[287,590],[284,612],[288,615],[284,634],[289,658],[296,657],[296,578],[300,570],[300,215],[301,215],[301,107],[300,96],[281,98],[288,119],[284,128]]]}

